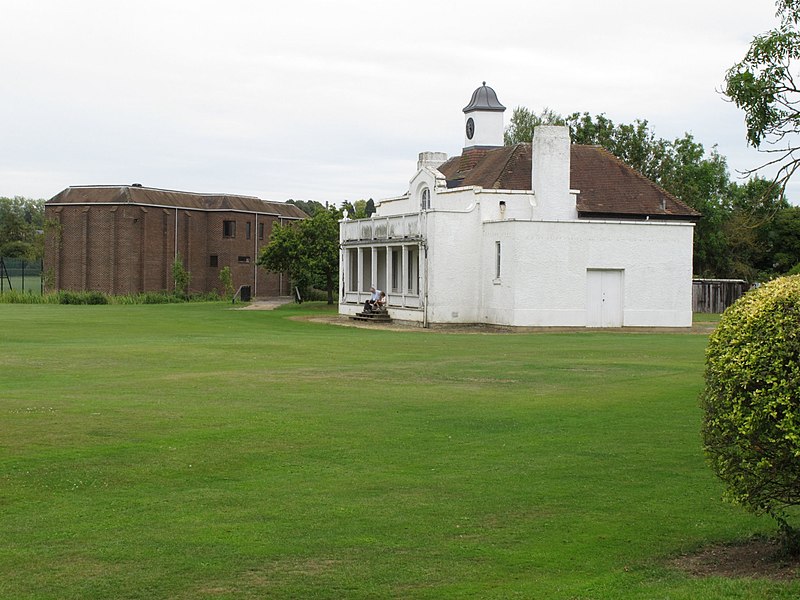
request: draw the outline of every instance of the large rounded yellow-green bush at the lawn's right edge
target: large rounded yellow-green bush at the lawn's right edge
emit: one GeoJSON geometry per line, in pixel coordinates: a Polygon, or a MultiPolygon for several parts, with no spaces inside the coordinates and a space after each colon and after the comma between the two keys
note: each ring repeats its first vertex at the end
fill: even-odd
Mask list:
{"type": "Polygon", "coordinates": [[[706,351],[703,438],[726,497],[775,517],[800,504],[800,276],[731,306],[706,351]]]}

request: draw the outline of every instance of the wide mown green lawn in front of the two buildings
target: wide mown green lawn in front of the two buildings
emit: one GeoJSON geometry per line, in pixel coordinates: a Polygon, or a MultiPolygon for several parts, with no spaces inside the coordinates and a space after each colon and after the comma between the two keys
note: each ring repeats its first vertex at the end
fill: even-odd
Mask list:
{"type": "Polygon", "coordinates": [[[695,334],[0,305],[0,598],[796,598],[720,501],[695,334]]]}

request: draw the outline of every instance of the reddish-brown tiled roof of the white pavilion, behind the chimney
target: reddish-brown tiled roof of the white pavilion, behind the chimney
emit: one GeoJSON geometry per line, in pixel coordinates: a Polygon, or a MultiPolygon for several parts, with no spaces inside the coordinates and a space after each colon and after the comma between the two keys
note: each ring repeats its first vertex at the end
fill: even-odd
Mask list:
{"type": "MultiPolygon", "coordinates": [[[[451,188],[530,190],[531,145],[467,150],[438,170],[451,188]]],[[[700,218],[699,212],[600,146],[571,146],[570,187],[580,192],[577,208],[581,217],[700,218]]]]}

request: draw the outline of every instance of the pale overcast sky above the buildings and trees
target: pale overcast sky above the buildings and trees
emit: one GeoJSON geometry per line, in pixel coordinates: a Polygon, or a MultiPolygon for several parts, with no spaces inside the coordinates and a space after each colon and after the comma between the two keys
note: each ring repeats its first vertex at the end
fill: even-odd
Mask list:
{"type": "MultiPolygon", "coordinates": [[[[760,164],[719,93],[773,0],[0,0],[0,196],[129,184],[380,199],[508,107],[647,119],[760,164]]],[[[790,198],[800,200],[800,187],[790,198]]]]}

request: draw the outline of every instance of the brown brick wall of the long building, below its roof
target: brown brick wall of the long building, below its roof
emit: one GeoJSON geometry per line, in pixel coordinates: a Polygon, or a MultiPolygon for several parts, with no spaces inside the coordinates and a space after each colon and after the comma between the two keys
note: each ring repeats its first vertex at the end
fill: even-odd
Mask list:
{"type": "Polygon", "coordinates": [[[176,252],[191,273],[192,292],[222,291],[219,272],[231,268],[236,289],[249,285],[259,296],[291,293],[286,275],[256,266],[276,217],[234,211],[202,211],[131,204],[45,205],[52,222],[45,244],[45,270],[56,289],[109,294],[172,291],[176,252]],[[176,227],[177,221],[177,227],[176,227]],[[235,223],[224,235],[224,223],[235,223]],[[249,237],[248,237],[249,223],[249,237]],[[264,239],[259,239],[259,224],[264,239]],[[212,266],[216,256],[216,266],[212,266]]]}

